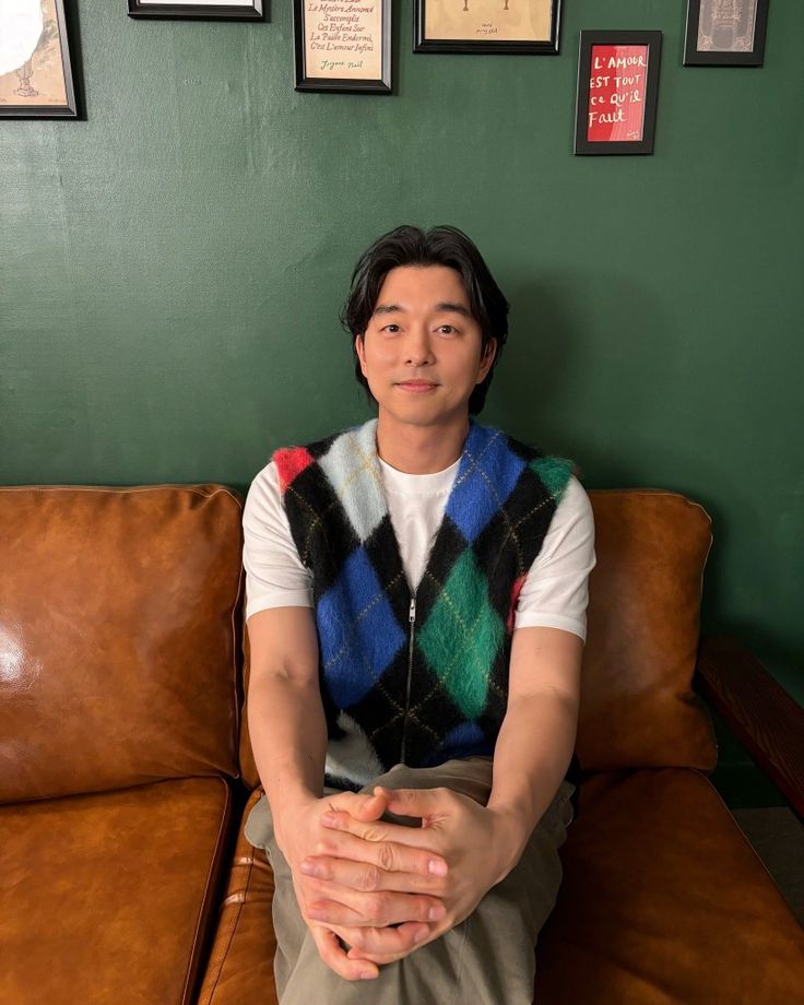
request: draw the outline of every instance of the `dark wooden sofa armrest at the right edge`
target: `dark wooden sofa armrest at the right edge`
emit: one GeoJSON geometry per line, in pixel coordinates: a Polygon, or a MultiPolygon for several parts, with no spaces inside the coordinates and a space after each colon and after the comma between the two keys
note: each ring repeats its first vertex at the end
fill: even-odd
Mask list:
{"type": "Polygon", "coordinates": [[[728,636],[701,640],[695,686],[804,819],[804,708],[728,636]]]}

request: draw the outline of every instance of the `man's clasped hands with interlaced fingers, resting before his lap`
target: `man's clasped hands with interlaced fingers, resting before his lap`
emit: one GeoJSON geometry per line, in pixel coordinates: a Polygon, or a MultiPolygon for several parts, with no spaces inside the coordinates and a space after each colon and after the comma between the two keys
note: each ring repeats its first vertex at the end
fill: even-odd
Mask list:
{"type": "Polygon", "coordinates": [[[445,788],[378,785],[306,803],[281,847],[322,960],[348,980],[371,979],[454,927],[508,872],[506,824],[445,788]],[[386,811],[421,826],[382,820],[386,811]]]}

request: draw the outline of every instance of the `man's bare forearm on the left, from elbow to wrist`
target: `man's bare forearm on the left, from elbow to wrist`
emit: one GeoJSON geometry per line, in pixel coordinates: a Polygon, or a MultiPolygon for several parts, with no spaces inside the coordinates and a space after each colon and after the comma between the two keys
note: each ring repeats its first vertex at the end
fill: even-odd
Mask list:
{"type": "Polygon", "coordinates": [[[276,819],[282,809],[323,793],[327,721],[318,684],[263,675],[248,693],[257,771],[276,819]]]}

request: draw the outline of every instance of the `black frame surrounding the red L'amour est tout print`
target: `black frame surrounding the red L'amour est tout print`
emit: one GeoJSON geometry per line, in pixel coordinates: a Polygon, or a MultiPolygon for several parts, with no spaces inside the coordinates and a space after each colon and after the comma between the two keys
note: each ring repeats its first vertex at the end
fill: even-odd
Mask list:
{"type": "MultiPolygon", "coordinates": [[[[607,154],[652,154],[653,139],[657,125],[657,97],[659,92],[659,70],[661,67],[662,56],[662,33],[661,32],[640,32],[640,31],[582,31],[580,33],[580,44],[578,52],[578,95],[576,99],[575,114],[575,153],[577,155],[607,155],[607,154]],[[641,130],[642,134],[638,140],[590,140],[588,130],[591,128],[590,122],[590,92],[592,88],[592,74],[595,69],[592,67],[592,52],[595,46],[647,46],[648,47],[648,67],[645,74],[645,93],[640,98],[643,105],[641,130]]],[[[627,70],[625,72],[628,72],[627,70]]],[[[599,75],[600,79],[600,75],[599,75]]],[[[626,78],[632,80],[632,76],[626,78]]],[[[620,97],[625,96],[630,99],[634,96],[638,85],[634,90],[625,87],[617,92],[620,97]]],[[[600,114],[600,113],[599,113],[600,114]]]]}

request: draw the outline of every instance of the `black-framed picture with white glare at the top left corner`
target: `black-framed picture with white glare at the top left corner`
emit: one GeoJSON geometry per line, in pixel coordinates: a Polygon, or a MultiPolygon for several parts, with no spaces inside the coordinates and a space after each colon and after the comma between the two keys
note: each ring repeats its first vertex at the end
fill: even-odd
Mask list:
{"type": "Polygon", "coordinates": [[[63,0],[0,2],[0,117],[78,118],[63,0]]]}

